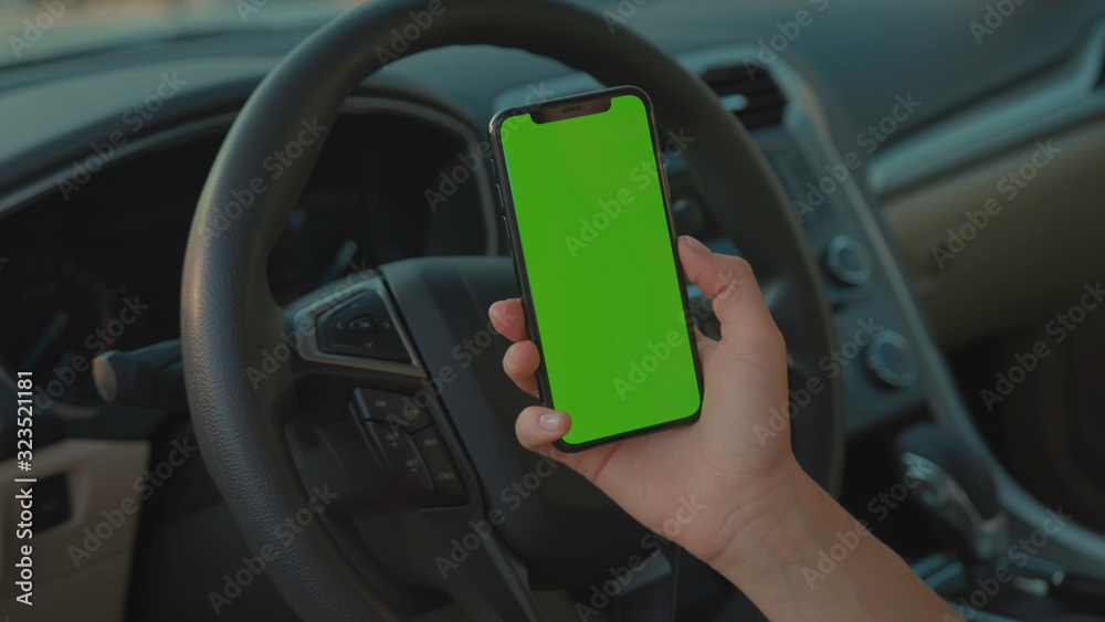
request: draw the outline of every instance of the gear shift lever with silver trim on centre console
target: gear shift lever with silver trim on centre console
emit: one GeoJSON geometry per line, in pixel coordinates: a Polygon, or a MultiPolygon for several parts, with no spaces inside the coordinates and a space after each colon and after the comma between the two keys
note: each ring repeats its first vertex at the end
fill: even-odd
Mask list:
{"type": "Polygon", "coordinates": [[[919,483],[915,500],[937,519],[965,561],[996,561],[1009,547],[1009,528],[993,476],[979,456],[932,423],[902,432],[894,451],[903,472],[919,483]]]}

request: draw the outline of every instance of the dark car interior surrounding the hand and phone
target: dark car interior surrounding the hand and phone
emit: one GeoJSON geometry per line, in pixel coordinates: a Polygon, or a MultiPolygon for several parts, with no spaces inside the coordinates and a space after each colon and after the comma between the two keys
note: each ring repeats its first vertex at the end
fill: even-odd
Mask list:
{"type": "Polygon", "coordinates": [[[619,85],[677,233],[756,272],[803,468],[964,620],[1105,620],[1105,2],[0,0],[0,34],[3,620],[766,619],[514,435],[488,124],[619,85]]]}

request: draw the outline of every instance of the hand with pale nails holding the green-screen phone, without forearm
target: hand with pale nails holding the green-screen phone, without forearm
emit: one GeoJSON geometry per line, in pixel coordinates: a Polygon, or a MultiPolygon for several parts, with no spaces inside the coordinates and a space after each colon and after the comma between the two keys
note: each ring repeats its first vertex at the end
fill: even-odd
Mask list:
{"type": "MultiPolygon", "coordinates": [[[[698,513],[670,537],[709,563],[746,526],[777,516],[792,485],[806,476],[789,430],[772,429],[778,433],[766,443],[756,433],[757,426],[768,428],[772,409],[786,412],[787,352],[751,267],[693,238],[681,238],[677,247],[684,273],[714,301],[722,326],[719,341],[695,330],[705,382],[698,422],[564,453],[550,443],[570,429],[569,414],[529,407],[518,415],[516,432],[525,447],[562,461],[656,533],[692,504],[698,513]]],[[[490,316],[514,341],[503,360],[506,373],[537,396],[540,356],[528,338],[522,303],[495,303],[490,316]]]]}

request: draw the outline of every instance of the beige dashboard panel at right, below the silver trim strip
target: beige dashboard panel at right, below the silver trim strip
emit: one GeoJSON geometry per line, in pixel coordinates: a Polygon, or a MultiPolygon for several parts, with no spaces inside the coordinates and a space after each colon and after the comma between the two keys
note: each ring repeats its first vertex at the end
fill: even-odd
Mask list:
{"type": "Polygon", "coordinates": [[[1103,162],[1105,119],[1096,119],[884,199],[943,348],[1044,320],[1101,278],[1103,162]],[[1041,144],[1059,151],[1049,160],[1041,144]],[[1032,178],[1009,177],[1022,170],[1032,178]]]}

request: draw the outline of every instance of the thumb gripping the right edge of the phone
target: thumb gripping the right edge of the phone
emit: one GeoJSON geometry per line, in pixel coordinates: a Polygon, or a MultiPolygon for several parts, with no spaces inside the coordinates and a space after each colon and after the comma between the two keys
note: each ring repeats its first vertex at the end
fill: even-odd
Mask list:
{"type": "Polygon", "coordinates": [[[778,333],[748,262],[712,253],[688,235],[680,238],[678,251],[687,278],[713,299],[723,337],[778,333]]]}

